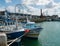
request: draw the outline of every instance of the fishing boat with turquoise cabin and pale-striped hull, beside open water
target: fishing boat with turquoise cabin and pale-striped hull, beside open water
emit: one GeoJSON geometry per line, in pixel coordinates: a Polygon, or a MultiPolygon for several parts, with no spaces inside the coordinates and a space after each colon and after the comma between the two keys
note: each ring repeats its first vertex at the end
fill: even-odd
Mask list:
{"type": "Polygon", "coordinates": [[[24,25],[24,28],[30,30],[30,32],[27,35],[25,35],[26,37],[30,38],[38,38],[42,29],[40,26],[37,26],[35,22],[29,21],[28,18],[27,23],[24,25]]]}

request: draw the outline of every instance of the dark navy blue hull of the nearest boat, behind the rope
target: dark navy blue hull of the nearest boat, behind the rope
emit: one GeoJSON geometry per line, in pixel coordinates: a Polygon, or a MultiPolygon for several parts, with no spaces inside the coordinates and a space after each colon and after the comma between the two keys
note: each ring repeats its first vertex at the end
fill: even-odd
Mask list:
{"type": "Polygon", "coordinates": [[[19,31],[19,32],[6,33],[6,35],[7,39],[15,39],[22,36],[24,33],[25,33],[24,31],[19,31]]]}

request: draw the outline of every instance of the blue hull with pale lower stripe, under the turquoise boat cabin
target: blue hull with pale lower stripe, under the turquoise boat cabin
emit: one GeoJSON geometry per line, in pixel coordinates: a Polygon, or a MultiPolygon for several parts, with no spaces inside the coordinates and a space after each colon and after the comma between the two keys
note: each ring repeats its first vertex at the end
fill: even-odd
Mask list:
{"type": "Polygon", "coordinates": [[[38,39],[38,36],[40,34],[41,29],[42,28],[30,29],[30,32],[27,35],[25,35],[25,36],[29,37],[29,38],[36,38],[36,39],[38,39]]]}

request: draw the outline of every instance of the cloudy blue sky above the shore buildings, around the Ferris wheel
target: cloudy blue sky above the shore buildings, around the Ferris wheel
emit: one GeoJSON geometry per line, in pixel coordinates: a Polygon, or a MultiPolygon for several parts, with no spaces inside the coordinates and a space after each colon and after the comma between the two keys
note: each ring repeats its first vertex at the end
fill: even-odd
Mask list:
{"type": "MultiPolygon", "coordinates": [[[[14,12],[16,4],[25,4],[31,11],[31,14],[40,15],[40,9],[43,9],[44,14],[60,15],[60,0],[0,0],[0,10],[6,7],[8,10],[14,12]]],[[[26,10],[24,11],[25,13],[29,13],[26,10]]]]}

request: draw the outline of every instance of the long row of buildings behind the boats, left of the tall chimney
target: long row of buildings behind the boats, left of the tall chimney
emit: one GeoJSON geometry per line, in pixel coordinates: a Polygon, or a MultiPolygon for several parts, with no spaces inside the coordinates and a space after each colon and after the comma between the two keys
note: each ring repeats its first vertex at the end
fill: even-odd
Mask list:
{"type": "MultiPolygon", "coordinates": [[[[5,17],[5,12],[6,11],[0,11],[0,16],[3,16],[3,17],[5,17]]],[[[26,20],[27,19],[27,17],[30,19],[30,20],[32,20],[32,21],[37,21],[37,19],[39,19],[40,18],[40,16],[38,16],[38,15],[31,15],[31,14],[23,14],[23,13],[12,13],[12,12],[7,12],[7,16],[8,16],[8,18],[11,18],[11,19],[13,19],[13,20],[15,20],[15,17],[17,16],[18,17],[18,20],[19,21],[21,21],[21,20],[26,20]]]]}

